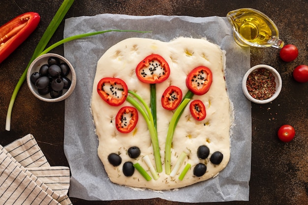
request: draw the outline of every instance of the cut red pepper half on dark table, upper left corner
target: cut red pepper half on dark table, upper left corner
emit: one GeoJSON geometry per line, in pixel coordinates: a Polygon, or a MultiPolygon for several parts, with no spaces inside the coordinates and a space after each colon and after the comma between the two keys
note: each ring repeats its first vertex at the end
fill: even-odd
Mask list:
{"type": "Polygon", "coordinates": [[[0,27],[0,63],[28,38],[39,21],[38,13],[27,12],[0,27]]]}

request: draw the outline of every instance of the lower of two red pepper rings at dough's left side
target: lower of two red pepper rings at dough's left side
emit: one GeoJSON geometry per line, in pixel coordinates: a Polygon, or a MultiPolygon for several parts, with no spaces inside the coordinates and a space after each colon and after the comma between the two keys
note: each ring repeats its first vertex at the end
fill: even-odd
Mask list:
{"type": "Polygon", "coordinates": [[[116,128],[119,132],[131,132],[137,124],[138,112],[136,108],[125,106],[121,108],[116,116],[116,128]]]}

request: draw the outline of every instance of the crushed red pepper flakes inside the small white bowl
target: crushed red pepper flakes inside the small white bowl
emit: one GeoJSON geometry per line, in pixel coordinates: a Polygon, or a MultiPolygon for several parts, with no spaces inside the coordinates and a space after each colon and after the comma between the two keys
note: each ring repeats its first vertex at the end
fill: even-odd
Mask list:
{"type": "Polygon", "coordinates": [[[260,68],[249,74],[246,87],[253,98],[269,99],[276,92],[275,76],[268,69],[260,68]]]}

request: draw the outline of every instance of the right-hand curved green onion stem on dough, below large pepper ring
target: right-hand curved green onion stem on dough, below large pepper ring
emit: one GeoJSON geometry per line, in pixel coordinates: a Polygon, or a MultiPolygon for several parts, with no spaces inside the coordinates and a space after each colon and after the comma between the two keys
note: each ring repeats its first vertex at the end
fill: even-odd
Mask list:
{"type": "Polygon", "coordinates": [[[169,127],[168,127],[166,145],[165,145],[165,173],[167,175],[170,175],[171,173],[171,146],[172,146],[174,131],[175,131],[175,128],[178,124],[180,117],[182,116],[184,112],[185,107],[189,103],[192,96],[193,96],[193,93],[190,90],[188,90],[181,104],[179,105],[175,113],[173,114],[169,127]]]}

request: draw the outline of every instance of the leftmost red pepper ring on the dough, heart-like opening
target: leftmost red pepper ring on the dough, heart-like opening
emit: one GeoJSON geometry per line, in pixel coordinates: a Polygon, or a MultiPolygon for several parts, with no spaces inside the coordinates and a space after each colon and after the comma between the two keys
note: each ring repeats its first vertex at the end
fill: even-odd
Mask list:
{"type": "Polygon", "coordinates": [[[97,92],[109,105],[119,106],[125,102],[128,88],[119,78],[102,78],[97,84],[97,92]]]}

